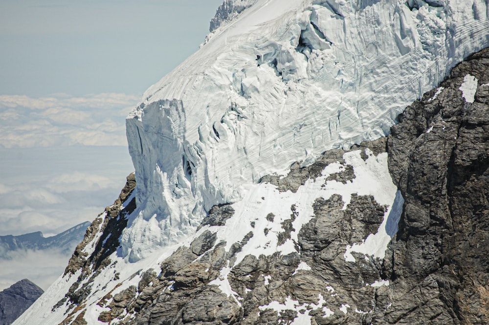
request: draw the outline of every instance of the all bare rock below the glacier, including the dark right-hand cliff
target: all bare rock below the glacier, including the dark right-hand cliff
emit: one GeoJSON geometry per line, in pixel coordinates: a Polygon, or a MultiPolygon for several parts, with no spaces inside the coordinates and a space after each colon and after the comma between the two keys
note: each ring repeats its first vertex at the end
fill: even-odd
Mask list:
{"type": "MultiPolygon", "coordinates": [[[[365,160],[387,149],[405,199],[383,260],[354,252],[355,261],[347,261],[345,246],[375,233],[386,207],[368,195],[352,195],[346,207],[341,195],[318,195],[296,253],[246,255],[235,263],[247,241],[263,235],[255,230],[226,251],[225,242],[203,231],[134,298],[138,313],[130,324],[488,324],[488,66],[488,50],[471,56],[406,108],[387,139],[352,148],[365,160]],[[477,80],[473,103],[467,80],[477,80]],[[219,278],[233,294],[216,286],[219,278]]],[[[294,164],[288,175],[262,181],[297,192],[329,164],[345,164],[344,153],[325,152],[310,166],[294,164]]],[[[355,169],[343,167],[327,181],[355,179],[355,169]]],[[[284,240],[295,230],[295,206],[290,211],[278,234],[284,240]]],[[[203,226],[225,227],[234,213],[216,206],[203,226]]]]}

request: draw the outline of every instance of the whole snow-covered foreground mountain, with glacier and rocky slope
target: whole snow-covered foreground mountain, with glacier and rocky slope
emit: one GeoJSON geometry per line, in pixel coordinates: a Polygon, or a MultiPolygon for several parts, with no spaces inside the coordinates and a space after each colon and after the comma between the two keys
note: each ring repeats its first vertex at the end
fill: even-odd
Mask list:
{"type": "Polygon", "coordinates": [[[488,51],[439,85],[488,16],[224,1],[127,118],[135,176],[15,324],[484,324],[457,247],[487,237],[488,51]]]}

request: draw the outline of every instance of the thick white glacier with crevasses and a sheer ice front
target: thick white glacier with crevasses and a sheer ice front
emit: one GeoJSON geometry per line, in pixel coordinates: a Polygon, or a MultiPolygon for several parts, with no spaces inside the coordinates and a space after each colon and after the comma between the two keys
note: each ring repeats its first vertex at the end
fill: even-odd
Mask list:
{"type": "Polygon", "coordinates": [[[489,45],[485,0],[226,8],[126,120],[138,210],[120,253],[130,262],[187,238],[213,205],[239,202],[265,175],[386,135],[407,105],[489,45]]]}

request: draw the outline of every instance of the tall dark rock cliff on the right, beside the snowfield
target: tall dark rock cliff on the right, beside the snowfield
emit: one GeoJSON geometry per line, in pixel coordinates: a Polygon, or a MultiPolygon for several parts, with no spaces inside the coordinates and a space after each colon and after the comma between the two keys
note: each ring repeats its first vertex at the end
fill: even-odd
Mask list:
{"type": "Polygon", "coordinates": [[[392,285],[377,297],[390,307],[377,324],[489,324],[488,84],[485,49],[392,128],[389,169],[405,204],[383,264],[392,285]],[[471,103],[461,85],[473,77],[471,103]]]}

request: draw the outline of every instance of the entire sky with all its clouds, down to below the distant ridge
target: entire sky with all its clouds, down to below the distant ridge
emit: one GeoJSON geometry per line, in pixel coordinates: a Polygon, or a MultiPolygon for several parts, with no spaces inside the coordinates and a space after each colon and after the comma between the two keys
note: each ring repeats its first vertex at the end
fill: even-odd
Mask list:
{"type": "MultiPolygon", "coordinates": [[[[0,236],[53,236],[112,204],[133,172],[125,117],[198,50],[221,2],[0,2],[0,236]]],[[[0,290],[26,267],[46,289],[67,257],[45,255],[0,260],[0,290]]]]}

